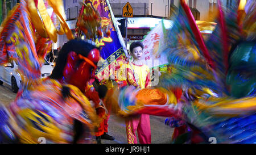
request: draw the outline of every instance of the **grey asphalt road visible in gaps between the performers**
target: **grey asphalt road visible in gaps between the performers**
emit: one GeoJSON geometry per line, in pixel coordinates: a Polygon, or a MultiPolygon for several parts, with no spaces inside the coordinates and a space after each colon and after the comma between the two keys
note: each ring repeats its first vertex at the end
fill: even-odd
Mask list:
{"type": "MultiPolygon", "coordinates": [[[[16,97],[16,94],[11,91],[11,86],[3,83],[0,86],[0,102],[7,105],[16,97]]],[[[151,143],[152,144],[168,144],[171,143],[173,128],[164,125],[163,117],[150,116],[151,127],[151,143]]],[[[109,119],[109,135],[114,136],[114,141],[101,140],[103,144],[127,144],[125,120],[117,118],[115,115],[110,115],[109,119]]],[[[137,136],[138,137],[138,136],[137,136]]],[[[138,141],[138,138],[137,138],[138,141]]]]}

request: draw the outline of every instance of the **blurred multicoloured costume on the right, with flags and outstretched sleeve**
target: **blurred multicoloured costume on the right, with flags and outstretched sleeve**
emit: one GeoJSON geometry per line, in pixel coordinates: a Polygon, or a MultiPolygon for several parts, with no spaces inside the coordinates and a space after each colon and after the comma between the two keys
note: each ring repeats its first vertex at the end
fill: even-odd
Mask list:
{"type": "MultiPolygon", "coordinates": [[[[170,68],[158,86],[165,88],[163,94],[170,93],[170,98],[170,87],[182,87],[180,102],[148,104],[138,98],[138,89],[127,87],[119,95],[121,113],[172,116],[184,121],[184,131],[173,143],[209,143],[211,137],[217,143],[256,142],[255,5],[247,1],[245,16],[238,18],[238,4],[225,13],[220,1],[218,5],[218,24],[206,44],[183,0],[168,32],[168,44],[162,52],[167,53],[170,68]],[[237,19],[243,22],[238,25],[237,19]]],[[[183,124],[171,121],[167,124],[183,124]]]]}

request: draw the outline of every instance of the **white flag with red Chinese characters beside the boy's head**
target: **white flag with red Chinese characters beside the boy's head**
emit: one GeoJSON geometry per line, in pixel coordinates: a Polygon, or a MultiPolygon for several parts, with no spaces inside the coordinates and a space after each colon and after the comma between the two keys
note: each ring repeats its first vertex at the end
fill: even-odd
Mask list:
{"type": "Polygon", "coordinates": [[[166,45],[164,39],[164,25],[160,22],[155,28],[153,28],[144,40],[142,41],[144,45],[144,55],[143,64],[146,64],[148,68],[155,68],[156,66],[168,64],[166,55],[160,53],[158,55],[159,47],[166,45]]]}

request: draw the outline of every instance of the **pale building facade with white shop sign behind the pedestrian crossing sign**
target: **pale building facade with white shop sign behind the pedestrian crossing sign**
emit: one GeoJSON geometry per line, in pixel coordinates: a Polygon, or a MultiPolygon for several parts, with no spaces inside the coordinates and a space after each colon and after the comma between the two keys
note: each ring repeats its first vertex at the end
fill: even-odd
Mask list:
{"type": "MultiPolygon", "coordinates": [[[[217,0],[185,0],[196,20],[212,20],[217,0]]],[[[142,39],[155,27],[159,19],[171,19],[176,14],[180,0],[109,0],[115,18],[122,19],[122,7],[127,2],[133,7],[134,18],[128,18],[128,44],[142,39]]],[[[235,1],[221,0],[222,5],[230,8],[235,1]]],[[[129,48],[129,47],[128,47],[129,48]]]]}

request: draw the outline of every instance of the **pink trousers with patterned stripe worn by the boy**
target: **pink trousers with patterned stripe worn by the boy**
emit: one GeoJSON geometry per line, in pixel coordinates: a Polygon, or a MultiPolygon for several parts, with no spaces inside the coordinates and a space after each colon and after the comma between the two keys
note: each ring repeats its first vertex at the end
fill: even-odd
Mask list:
{"type": "Polygon", "coordinates": [[[129,144],[137,144],[136,130],[139,143],[151,144],[150,115],[141,114],[141,117],[133,120],[126,120],[126,134],[129,144]]]}

